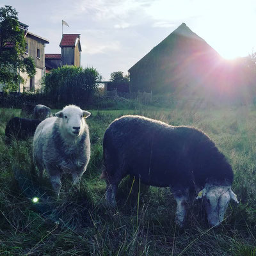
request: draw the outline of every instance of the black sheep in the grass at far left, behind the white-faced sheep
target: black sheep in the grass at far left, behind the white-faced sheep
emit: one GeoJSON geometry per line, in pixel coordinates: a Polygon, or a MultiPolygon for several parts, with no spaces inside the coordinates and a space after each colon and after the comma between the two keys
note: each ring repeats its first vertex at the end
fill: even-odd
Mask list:
{"type": "Polygon", "coordinates": [[[25,140],[29,136],[33,136],[40,122],[41,120],[13,117],[9,120],[5,128],[6,142],[9,143],[12,138],[25,140]]]}

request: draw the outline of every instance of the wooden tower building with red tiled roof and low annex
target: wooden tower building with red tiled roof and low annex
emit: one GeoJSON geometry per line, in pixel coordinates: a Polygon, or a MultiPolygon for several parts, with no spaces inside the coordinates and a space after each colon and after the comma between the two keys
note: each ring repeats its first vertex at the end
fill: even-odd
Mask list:
{"type": "Polygon", "coordinates": [[[46,72],[63,65],[81,67],[80,34],[63,34],[60,47],[61,54],[45,54],[46,72]]]}

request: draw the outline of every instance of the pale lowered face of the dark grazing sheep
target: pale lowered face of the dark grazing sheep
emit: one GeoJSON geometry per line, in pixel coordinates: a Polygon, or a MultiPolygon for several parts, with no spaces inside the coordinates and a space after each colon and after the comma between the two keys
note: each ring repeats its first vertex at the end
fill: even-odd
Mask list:
{"type": "Polygon", "coordinates": [[[239,203],[230,186],[206,186],[199,192],[197,198],[204,196],[207,220],[211,227],[218,226],[223,221],[230,199],[239,203]]]}

